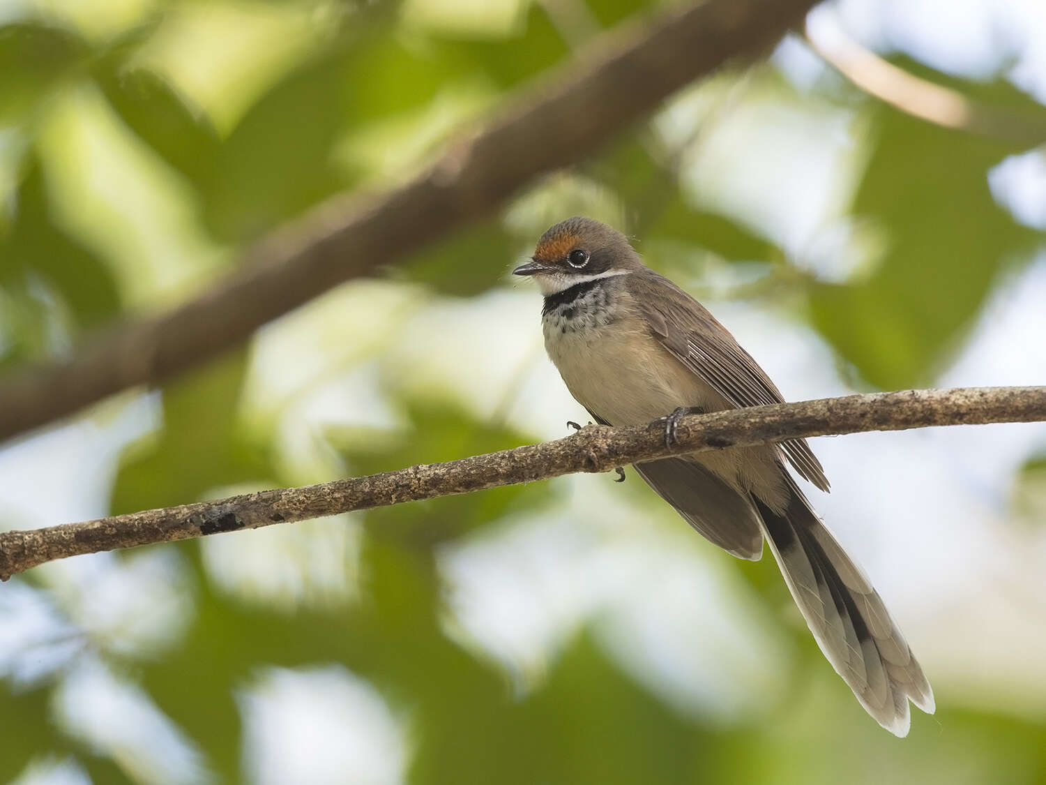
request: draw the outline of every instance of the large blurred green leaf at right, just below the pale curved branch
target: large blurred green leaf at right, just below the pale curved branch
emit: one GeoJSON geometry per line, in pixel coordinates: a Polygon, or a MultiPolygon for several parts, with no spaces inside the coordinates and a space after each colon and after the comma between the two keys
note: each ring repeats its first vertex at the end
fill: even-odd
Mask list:
{"type": "Polygon", "coordinates": [[[992,286],[1027,254],[1033,232],[992,198],[987,170],[1003,142],[878,111],[878,139],[854,204],[887,243],[867,279],[811,283],[818,331],[871,384],[931,382],[992,286]]]}

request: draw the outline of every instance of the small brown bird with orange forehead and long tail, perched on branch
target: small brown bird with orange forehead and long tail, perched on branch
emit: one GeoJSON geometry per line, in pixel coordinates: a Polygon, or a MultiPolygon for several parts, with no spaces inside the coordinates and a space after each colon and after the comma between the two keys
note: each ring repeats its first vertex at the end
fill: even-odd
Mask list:
{"type": "MultiPolygon", "coordinates": [[[[606,224],[584,217],[555,224],[513,273],[531,278],[544,295],[548,356],[599,424],[660,421],[670,442],[687,411],[783,402],[727,329],[606,224]]],[[[786,463],[828,491],[820,462],[799,439],[672,455],[634,469],[727,553],[755,561],[766,540],[828,663],[880,725],[906,736],[909,701],[934,712],[930,683],[879,592],[786,463]]]]}

